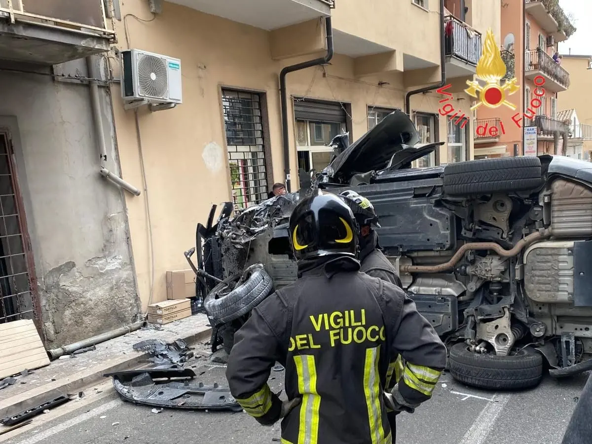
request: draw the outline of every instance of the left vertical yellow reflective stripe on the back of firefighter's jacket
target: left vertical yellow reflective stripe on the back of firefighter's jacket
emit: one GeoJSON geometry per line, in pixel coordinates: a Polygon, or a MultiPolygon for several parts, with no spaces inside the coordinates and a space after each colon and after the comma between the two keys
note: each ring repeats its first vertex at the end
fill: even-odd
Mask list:
{"type": "MultiPolygon", "coordinates": [[[[300,404],[298,444],[317,444],[318,411],[321,407],[321,397],[317,392],[317,367],[314,363],[314,356],[294,356],[294,363],[298,374],[298,392],[303,395],[300,404]]],[[[285,442],[288,443],[288,441],[285,442]]]]}

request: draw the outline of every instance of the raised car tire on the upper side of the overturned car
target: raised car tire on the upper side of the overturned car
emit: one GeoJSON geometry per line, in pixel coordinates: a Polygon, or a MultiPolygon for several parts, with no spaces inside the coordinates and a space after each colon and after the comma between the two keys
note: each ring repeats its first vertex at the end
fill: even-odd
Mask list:
{"type": "Polygon", "coordinates": [[[540,159],[523,156],[450,163],[443,182],[445,194],[475,195],[536,189],[543,179],[540,159]]]}

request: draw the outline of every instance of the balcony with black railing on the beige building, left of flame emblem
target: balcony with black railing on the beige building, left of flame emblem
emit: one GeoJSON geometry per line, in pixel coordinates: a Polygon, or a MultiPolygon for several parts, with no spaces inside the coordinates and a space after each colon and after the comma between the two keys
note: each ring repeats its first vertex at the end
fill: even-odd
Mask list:
{"type": "Polygon", "coordinates": [[[445,21],[446,77],[472,76],[481,58],[481,33],[453,15],[445,21]]]}

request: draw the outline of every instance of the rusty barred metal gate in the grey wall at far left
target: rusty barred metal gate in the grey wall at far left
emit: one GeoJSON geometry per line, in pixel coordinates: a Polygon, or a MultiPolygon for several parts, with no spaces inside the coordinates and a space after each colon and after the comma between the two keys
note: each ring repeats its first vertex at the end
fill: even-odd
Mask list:
{"type": "Polygon", "coordinates": [[[0,323],[40,320],[33,269],[14,152],[0,132],[0,323]]]}

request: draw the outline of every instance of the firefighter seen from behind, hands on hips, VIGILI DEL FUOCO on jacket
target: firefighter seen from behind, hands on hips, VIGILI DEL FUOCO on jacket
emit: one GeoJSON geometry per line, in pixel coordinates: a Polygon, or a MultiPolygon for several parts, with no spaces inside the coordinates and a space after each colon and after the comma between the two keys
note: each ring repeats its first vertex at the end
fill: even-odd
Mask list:
{"type": "Polygon", "coordinates": [[[230,391],[260,424],[283,419],[282,443],[392,443],[387,407],[413,413],[445,366],[446,348],[413,301],[359,272],[357,231],[342,198],[318,191],[301,200],[289,221],[299,279],[235,335],[230,391]],[[385,393],[399,353],[403,378],[385,393]],[[267,384],[276,361],[286,369],[284,403],[267,384]]]}

